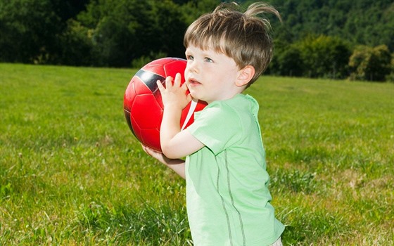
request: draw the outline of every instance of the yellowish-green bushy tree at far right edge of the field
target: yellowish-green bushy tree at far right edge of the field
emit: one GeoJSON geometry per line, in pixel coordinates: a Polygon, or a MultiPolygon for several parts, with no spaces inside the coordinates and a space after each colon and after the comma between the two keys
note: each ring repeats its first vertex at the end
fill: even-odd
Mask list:
{"type": "Polygon", "coordinates": [[[349,65],[354,72],[351,80],[384,81],[393,71],[393,63],[388,47],[381,45],[374,48],[357,46],[350,57],[349,65]]]}

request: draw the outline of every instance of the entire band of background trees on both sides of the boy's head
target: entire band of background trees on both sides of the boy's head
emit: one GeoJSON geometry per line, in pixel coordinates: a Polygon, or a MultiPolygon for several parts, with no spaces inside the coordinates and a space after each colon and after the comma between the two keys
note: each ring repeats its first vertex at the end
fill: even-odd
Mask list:
{"type": "MultiPolygon", "coordinates": [[[[238,1],[247,6],[254,1],[238,1]]],[[[271,0],[268,74],[393,81],[390,0],[271,0]]],[[[141,67],[184,56],[186,27],[219,0],[0,0],[0,62],[141,67]]]]}

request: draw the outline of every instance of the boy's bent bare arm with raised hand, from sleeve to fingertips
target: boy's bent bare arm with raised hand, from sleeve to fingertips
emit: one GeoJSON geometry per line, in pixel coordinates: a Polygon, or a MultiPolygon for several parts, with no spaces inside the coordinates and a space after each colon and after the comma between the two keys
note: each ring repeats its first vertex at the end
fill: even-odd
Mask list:
{"type": "Polygon", "coordinates": [[[165,79],[165,86],[158,82],[162,94],[164,112],[160,126],[160,145],[164,155],[177,159],[190,155],[204,147],[189,131],[181,131],[179,122],[182,110],[191,101],[191,96],[186,95],[186,83],[181,85],[181,76],[177,74],[172,84],[172,78],[165,79]]]}

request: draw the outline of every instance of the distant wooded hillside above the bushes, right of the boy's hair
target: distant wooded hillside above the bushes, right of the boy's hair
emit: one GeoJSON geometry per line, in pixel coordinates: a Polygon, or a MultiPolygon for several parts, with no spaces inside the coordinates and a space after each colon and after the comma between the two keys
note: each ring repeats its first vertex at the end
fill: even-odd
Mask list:
{"type": "MultiPolygon", "coordinates": [[[[351,44],[386,44],[390,51],[394,50],[394,3],[391,0],[269,0],[269,3],[279,8],[283,25],[294,37],[292,41],[322,34],[341,37],[351,44]]],[[[278,25],[274,21],[274,30],[278,25]]]]}

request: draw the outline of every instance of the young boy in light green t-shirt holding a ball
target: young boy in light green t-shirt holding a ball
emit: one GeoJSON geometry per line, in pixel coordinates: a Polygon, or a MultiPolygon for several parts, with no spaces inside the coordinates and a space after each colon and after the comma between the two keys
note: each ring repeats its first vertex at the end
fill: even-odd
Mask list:
{"type": "Polygon", "coordinates": [[[281,245],[284,225],[269,203],[259,106],[242,94],[272,58],[269,21],[260,13],[280,18],[262,3],[245,13],[222,4],[202,15],[184,36],[186,82],[180,85],[179,74],[167,77],[165,87],[158,82],[163,154],[144,150],[186,179],[194,245],[281,245]],[[192,98],[208,105],[181,131],[181,112],[192,98]],[[179,159],[185,156],[186,162],[179,159]]]}

